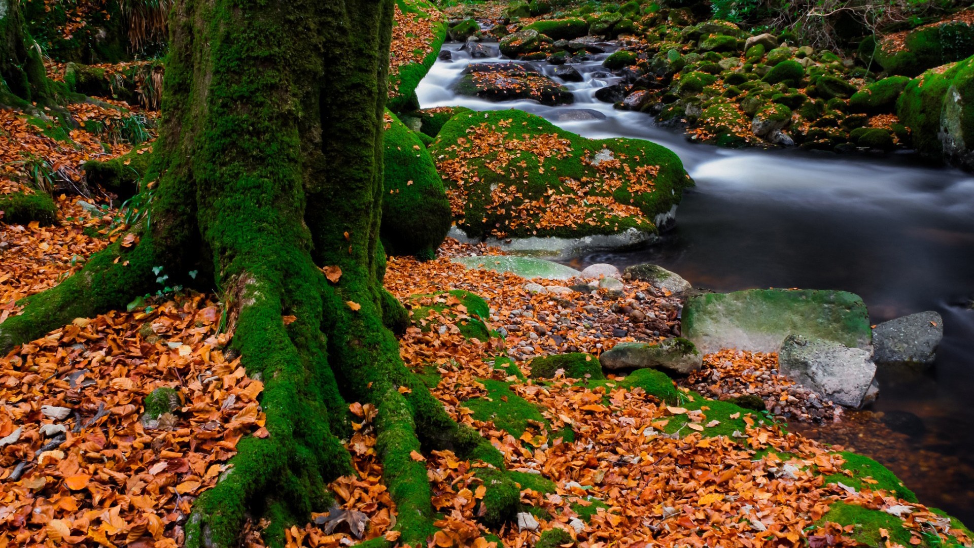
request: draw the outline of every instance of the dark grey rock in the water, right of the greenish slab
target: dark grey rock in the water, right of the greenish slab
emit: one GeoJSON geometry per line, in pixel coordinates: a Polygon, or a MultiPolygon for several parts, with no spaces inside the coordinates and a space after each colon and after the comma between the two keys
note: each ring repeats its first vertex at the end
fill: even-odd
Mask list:
{"type": "Polygon", "coordinates": [[[875,361],[880,365],[929,367],[944,338],[944,319],[936,312],[919,312],[883,322],[873,330],[875,361]]]}

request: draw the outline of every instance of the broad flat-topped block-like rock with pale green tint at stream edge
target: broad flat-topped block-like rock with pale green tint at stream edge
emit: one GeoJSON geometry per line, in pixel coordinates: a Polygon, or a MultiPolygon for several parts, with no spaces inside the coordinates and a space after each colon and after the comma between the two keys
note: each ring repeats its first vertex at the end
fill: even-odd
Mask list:
{"type": "Polygon", "coordinates": [[[789,334],[868,348],[869,312],[856,294],[816,290],[747,290],[687,299],[683,334],[704,354],[724,348],[777,352],[789,334]]]}

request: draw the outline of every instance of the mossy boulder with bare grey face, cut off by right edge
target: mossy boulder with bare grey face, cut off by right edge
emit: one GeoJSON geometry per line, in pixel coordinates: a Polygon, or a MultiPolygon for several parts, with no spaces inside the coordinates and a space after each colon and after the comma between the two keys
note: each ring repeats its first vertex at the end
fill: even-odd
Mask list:
{"type": "Polygon", "coordinates": [[[974,57],[924,72],[896,111],[921,155],[974,171],[974,57]]]}

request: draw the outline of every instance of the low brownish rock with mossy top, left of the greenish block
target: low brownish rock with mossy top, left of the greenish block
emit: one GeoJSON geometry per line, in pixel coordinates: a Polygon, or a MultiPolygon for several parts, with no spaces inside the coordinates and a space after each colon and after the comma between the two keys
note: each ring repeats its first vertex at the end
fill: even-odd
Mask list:
{"type": "Polygon", "coordinates": [[[620,342],[599,357],[607,370],[651,368],[677,374],[690,374],[703,365],[703,355],[686,338],[667,338],[658,344],[620,342]]]}

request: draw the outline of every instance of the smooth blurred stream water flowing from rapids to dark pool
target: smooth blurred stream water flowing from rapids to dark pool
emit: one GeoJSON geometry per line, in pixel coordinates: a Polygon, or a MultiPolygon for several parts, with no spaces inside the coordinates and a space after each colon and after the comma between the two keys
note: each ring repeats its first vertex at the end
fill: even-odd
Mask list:
{"type": "MultiPolygon", "coordinates": [[[[497,56],[496,45],[487,46],[497,56]]],[[[571,105],[459,97],[451,86],[471,61],[506,62],[469,59],[459,49],[447,44],[452,60],[437,61],[420,84],[424,108],[519,108],[585,137],[649,139],[676,152],[696,181],[679,207],[677,227],[662,242],[582,256],[576,266],[654,262],[717,292],[844,290],[863,297],[874,323],[940,312],[945,337],[933,370],[880,372],[873,411],[884,413],[886,422],[912,417],[910,435],[887,428],[880,412],[850,413],[840,425],[793,427],[877,458],[920,500],[974,525],[974,175],[925,167],[911,154],[839,156],[695,144],[656,127],[647,114],[595,99],[595,90],[618,81],[601,67],[606,55],[573,65],[584,81],[565,84],[575,96],[571,105]]],[[[554,68],[532,64],[549,75],[554,68]]]]}

